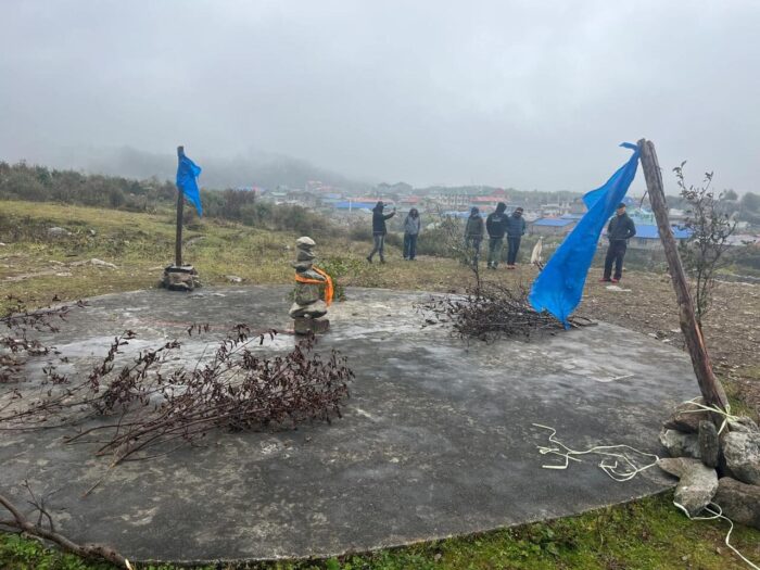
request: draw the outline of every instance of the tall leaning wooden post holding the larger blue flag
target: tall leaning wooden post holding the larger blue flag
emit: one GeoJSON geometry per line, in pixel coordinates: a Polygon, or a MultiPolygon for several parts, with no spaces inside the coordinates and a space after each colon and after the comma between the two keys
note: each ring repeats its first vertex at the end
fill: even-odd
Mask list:
{"type": "Polygon", "coordinates": [[[673,280],[673,289],[679,301],[679,319],[681,320],[681,331],[686,339],[688,354],[692,357],[694,372],[699,383],[699,390],[702,393],[705,403],[708,406],[717,406],[724,411],[729,411],[729,400],[725,396],[725,391],[720,380],[712,373],[710,365],[710,356],[707,353],[705,339],[702,338],[701,329],[697,322],[697,317],[694,312],[694,301],[688,291],[686,282],[686,274],[681,264],[679,248],[673,237],[673,231],[668,219],[668,206],[666,205],[664,190],[662,187],[662,173],[660,165],[657,162],[657,153],[651,141],[642,139],[638,141],[641,151],[642,169],[646,178],[646,186],[649,192],[649,201],[651,202],[651,211],[657,219],[657,229],[662,240],[666,258],[668,259],[668,269],[670,277],[673,280]]]}

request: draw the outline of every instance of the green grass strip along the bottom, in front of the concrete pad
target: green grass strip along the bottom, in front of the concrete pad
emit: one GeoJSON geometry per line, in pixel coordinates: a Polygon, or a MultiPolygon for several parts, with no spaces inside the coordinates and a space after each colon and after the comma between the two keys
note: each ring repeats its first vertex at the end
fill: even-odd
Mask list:
{"type": "MultiPolygon", "coordinates": [[[[672,504],[672,494],[594,510],[579,517],[524,524],[474,536],[320,561],[246,565],[271,570],[482,570],[482,569],[670,569],[746,568],[723,544],[727,523],[693,522],[672,504]]],[[[508,507],[505,507],[508,508],[508,507]]],[[[732,544],[745,556],[760,557],[760,532],[737,527],[732,544]]],[[[36,541],[0,535],[5,570],[103,570],[36,541]]],[[[140,568],[156,568],[142,566],[140,568]]],[[[172,567],[161,567],[169,569],[172,567]]],[[[235,568],[233,566],[205,568],[235,568]]]]}

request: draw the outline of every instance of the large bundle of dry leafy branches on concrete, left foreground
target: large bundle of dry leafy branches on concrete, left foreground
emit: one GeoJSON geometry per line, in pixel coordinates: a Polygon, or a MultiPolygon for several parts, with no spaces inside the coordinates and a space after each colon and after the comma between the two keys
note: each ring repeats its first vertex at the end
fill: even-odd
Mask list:
{"type": "MultiPolygon", "coordinates": [[[[188,332],[202,331],[191,327],[188,332]]],[[[345,358],[334,350],[324,358],[314,350],[314,335],[282,356],[250,350],[275,334],[252,334],[248,326],[238,325],[208,362],[165,373],[162,365],[180,349],[177,341],[142,351],[116,369],[119,349],[135,338],[127,331],[114,339],[86,379],[72,382],[52,371],[38,398],[25,402],[18,393],[0,409],[0,430],[80,426],[98,417],[96,427],[83,427],[67,441],[98,443],[97,454],[113,455],[116,465],[151,457],[159,446],[155,453],[167,453],[214,429],[281,428],[340,416],[354,377],[345,358]]]]}

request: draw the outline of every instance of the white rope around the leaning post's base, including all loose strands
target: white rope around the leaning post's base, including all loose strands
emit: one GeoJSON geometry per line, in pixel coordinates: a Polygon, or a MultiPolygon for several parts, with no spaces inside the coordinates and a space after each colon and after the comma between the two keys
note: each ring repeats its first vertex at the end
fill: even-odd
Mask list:
{"type": "MultiPolygon", "coordinates": [[[[710,407],[710,406],[705,406],[702,404],[699,404],[697,402],[688,401],[688,403],[694,404],[695,406],[699,406],[701,408],[705,408],[709,411],[714,411],[718,414],[721,414],[724,416],[723,420],[723,426],[721,427],[721,430],[723,427],[725,427],[726,422],[729,419],[734,419],[734,416],[729,414],[727,411],[723,411],[720,408],[717,407],[710,407]]],[[[686,410],[684,414],[688,414],[691,411],[699,411],[699,410],[686,410]]],[[[541,455],[559,455],[565,459],[563,465],[542,465],[541,467],[544,469],[567,469],[570,466],[570,461],[578,461],[582,463],[581,459],[575,457],[577,455],[588,455],[588,454],[595,454],[595,455],[603,455],[605,456],[601,461],[599,461],[599,468],[607,473],[611,479],[615,479],[616,481],[623,482],[623,481],[630,481],[634,477],[636,477],[638,473],[642,471],[645,471],[649,469],[650,467],[654,467],[657,465],[657,461],[659,460],[659,457],[655,455],[654,453],[646,453],[642,452],[641,449],[636,449],[635,447],[631,447],[630,445],[596,445],[594,447],[591,447],[588,449],[578,452],[575,449],[571,449],[567,445],[565,445],[562,442],[558,441],[555,435],[557,434],[557,430],[554,428],[550,428],[548,426],[542,426],[541,423],[533,423],[536,428],[541,428],[544,430],[548,430],[552,433],[549,434],[548,441],[549,443],[553,443],[554,446],[552,447],[545,447],[543,445],[536,445],[539,448],[539,453],[541,455]],[[654,457],[654,463],[647,464],[644,467],[638,467],[632,459],[630,459],[624,453],[615,453],[612,449],[625,449],[625,451],[631,451],[634,452],[635,454],[643,455],[646,457],[654,457]],[[615,463],[610,464],[609,460],[610,458],[615,458],[615,463]],[[621,470],[618,468],[618,460],[623,461],[625,470],[621,470]]],[[[719,431],[720,433],[720,431],[719,431]]],[[[710,503],[710,506],[714,506],[718,511],[714,511],[713,509],[710,508],[710,506],[705,507],[705,510],[710,512],[712,516],[710,517],[692,517],[688,514],[688,510],[686,510],[686,507],[683,505],[676,503],[673,501],[673,505],[675,505],[677,508],[680,508],[686,517],[689,518],[689,520],[715,520],[715,519],[724,519],[729,521],[729,524],[731,528],[729,529],[729,534],[725,535],[725,545],[731,548],[736,556],[738,556],[742,560],[744,560],[749,568],[752,570],[760,570],[760,567],[748,560],[740,552],[738,552],[732,544],[731,544],[731,533],[734,531],[734,522],[723,515],[723,509],[721,509],[720,505],[717,505],[715,503],[710,503]]]]}

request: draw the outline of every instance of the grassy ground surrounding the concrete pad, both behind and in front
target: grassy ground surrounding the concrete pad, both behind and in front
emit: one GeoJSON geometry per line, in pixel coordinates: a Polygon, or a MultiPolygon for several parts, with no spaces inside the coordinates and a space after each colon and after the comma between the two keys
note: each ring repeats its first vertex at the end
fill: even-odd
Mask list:
{"type": "MultiPolygon", "coordinates": [[[[248,283],[287,283],[292,280],[297,236],[203,220],[186,230],[186,262],[197,266],[204,284],[224,284],[228,276],[248,283]]],[[[420,238],[420,239],[423,239],[420,238]]],[[[101,293],[155,287],[174,254],[174,219],[169,214],[124,212],[0,202],[0,305],[13,294],[31,306],[101,293]],[[48,228],[59,226],[71,236],[52,239],[48,228]],[[116,268],[93,265],[92,258],[116,268]]],[[[389,263],[364,261],[368,243],[319,240],[321,261],[343,274],[347,286],[463,291],[470,271],[453,259],[421,257],[406,263],[395,249],[389,263]]],[[[581,313],[653,334],[674,346],[682,344],[677,313],[667,277],[626,274],[629,291],[609,290],[592,270],[581,313]]],[[[535,273],[491,271],[490,279],[528,287],[535,273]]],[[[0,312],[2,306],[0,306],[0,312]]],[[[760,340],[758,288],[726,283],[719,290],[707,337],[717,370],[735,406],[757,417],[760,340]]],[[[696,384],[695,384],[696,390],[696,384]]],[[[330,570],[441,569],[738,569],[746,566],[723,544],[727,524],[691,522],[671,505],[668,494],[581,517],[529,524],[479,536],[453,539],[345,560],[281,563],[261,568],[330,570]]],[[[751,559],[760,559],[760,532],[737,529],[733,542],[751,559]]],[[[0,534],[0,568],[105,568],[72,556],[45,550],[37,542],[0,534]]],[[[224,566],[223,566],[224,568],[224,566]]]]}

